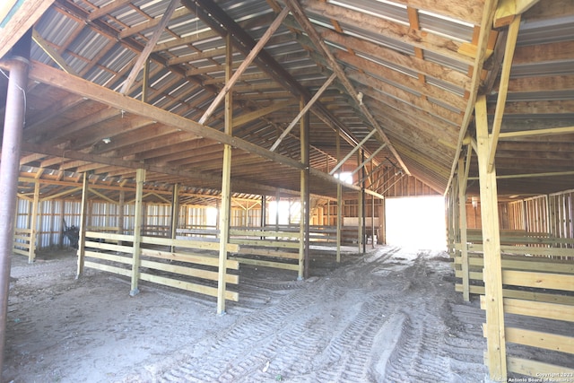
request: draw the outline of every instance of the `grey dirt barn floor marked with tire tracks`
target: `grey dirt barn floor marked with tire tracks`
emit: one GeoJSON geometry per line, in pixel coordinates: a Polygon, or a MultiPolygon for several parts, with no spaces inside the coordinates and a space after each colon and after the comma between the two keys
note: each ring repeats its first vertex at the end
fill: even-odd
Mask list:
{"type": "Polygon", "coordinates": [[[14,257],[4,382],[479,382],[478,300],[447,255],[380,247],[312,256],[311,274],[242,266],[239,302],[14,257]]]}

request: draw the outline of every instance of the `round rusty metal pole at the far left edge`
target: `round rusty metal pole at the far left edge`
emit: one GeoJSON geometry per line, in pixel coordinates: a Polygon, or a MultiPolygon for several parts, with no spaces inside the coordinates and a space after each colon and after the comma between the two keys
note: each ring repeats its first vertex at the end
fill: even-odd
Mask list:
{"type": "Polygon", "coordinates": [[[31,30],[13,48],[6,95],[2,159],[0,160],[0,372],[4,367],[6,315],[13,252],[14,215],[20,173],[20,146],[26,114],[25,89],[30,64],[31,30]]]}

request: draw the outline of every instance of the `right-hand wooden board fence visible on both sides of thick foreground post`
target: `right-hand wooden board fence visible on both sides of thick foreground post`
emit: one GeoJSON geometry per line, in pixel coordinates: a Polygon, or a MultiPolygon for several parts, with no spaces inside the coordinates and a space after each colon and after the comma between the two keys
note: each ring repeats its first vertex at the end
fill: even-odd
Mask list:
{"type": "MultiPolygon", "coordinates": [[[[529,318],[517,319],[517,324],[530,323],[534,318],[556,323],[556,326],[546,323],[545,327],[541,327],[544,331],[521,328],[522,325],[517,324],[504,327],[505,342],[515,344],[512,348],[507,347],[509,372],[531,376],[541,379],[540,381],[574,381],[574,369],[571,365],[560,365],[561,361],[570,361],[571,357],[554,358],[549,363],[521,358],[518,355],[519,350],[525,347],[538,349],[536,354],[539,355],[543,355],[545,350],[564,355],[574,354],[572,332],[553,330],[570,329],[571,322],[574,322],[574,248],[563,247],[564,244],[568,246],[574,241],[552,238],[547,233],[526,231],[500,231],[500,235],[504,313],[518,316],[517,318],[529,318]]],[[[453,263],[455,275],[462,281],[456,284],[456,289],[457,292],[463,292],[466,284],[471,293],[481,295],[481,307],[485,309],[484,260],[480,231],[471,231],[467,240],[469,243],[464,245],[454,244],[457,250],[453,263]],[[464,249],[466,257],[462,254],[464,249]],[[467,262],[466,267],[463,267],[463,262],[467,262]],[[468,270],[468,274],[465,275],[463,270],[468,270]]],[[[486,329],[487,326],[484,325],[483,328],[486,329]]],[[[487,353],[484,356],[488,364],[487,353]]]]}

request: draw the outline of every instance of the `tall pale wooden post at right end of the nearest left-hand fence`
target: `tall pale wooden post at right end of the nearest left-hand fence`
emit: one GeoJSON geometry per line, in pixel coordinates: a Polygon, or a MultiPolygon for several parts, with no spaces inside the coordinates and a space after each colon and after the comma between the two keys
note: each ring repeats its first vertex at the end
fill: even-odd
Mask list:
{"type": "MultiPolygon", "coordinates": [[[[231,34],[226,36],[225,81],[230,81],[231,66],[233,65],[233,48],[231,34]]],[[[225,133],[233,134],[233,93],[225,94],[225,133]]],[[[222,213],[220,215],[219,238],[219,270],[217,274],[217,314],[225,314],[225,275],[227,274],[227,245],[230,240],[230,209],[231,209],[231,146],[223,145],[222,169],[222,213]]]]}

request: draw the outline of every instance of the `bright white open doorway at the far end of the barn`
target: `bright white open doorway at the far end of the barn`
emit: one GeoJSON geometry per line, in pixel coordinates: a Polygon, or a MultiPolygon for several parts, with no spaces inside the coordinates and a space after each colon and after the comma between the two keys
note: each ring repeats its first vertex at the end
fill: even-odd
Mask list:
{"type": "Polygon", "coordinates": [[[385,211],[388,245],[433,250],[447,248],[443,196],[387,198],[385,211]]]}

